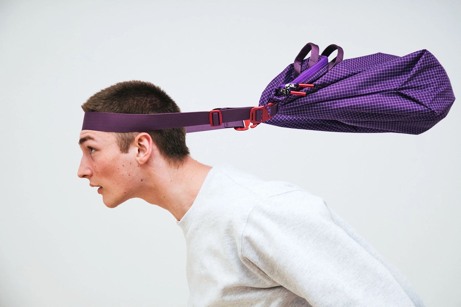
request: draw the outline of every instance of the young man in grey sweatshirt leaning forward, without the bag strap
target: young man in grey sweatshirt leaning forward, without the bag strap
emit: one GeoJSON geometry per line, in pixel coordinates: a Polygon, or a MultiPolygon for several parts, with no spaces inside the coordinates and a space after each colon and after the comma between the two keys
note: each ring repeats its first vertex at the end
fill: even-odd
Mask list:
{"type": "MultiPolygon", "coordinates": [[[[85,112],[175,113],[148,82],[121,82],[85,112]]],[[[188,306],[424,306],[405,277],[319,197],[189,156],[185,129],[83,130],[78,176],[107,207],[139,197],[173,214],[187,245],[188,306]]]]}

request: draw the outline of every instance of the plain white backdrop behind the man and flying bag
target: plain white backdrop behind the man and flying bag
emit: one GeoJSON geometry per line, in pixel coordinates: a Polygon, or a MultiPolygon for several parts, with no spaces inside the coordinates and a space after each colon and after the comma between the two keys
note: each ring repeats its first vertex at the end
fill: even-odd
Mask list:
{"type": "MultiPolygon", "coordinates": [[[[0,2],[0,306],[186,306],[185,244],[164,209],[108,209],[77,178],[83,111],[151,81],[182,111],[256,106],[307,42],[344,58],[428,49],[460,92],[459,1],[0,2]]],[[[334,56],[334,55],[333,55],[334,56]]],[[[460,107],[420,135],[261,124],[188,134],[192,156],[323,197],[428,307],[461,306],[460,107]]]]}

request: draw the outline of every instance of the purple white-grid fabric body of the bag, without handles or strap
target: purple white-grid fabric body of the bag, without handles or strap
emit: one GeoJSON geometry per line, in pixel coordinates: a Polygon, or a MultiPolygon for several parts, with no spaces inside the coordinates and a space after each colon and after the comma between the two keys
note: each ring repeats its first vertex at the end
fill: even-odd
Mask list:
{"type": "MultiPolygon", "coordinates": [[[[320,57],[319,57],[320,59],[320,57]]],[[[307,69],[303,61],[301,72],[307,69]]],[[[431,52],[403,57],[375,53],[324,66],[302,83],[306,96],[276,94],[294,80],[293,64],[263,91],[259,105],[278,103],[265,123],[335,132],[423,133],[442,120],[455,101],[448,75],[431,52]]]]}

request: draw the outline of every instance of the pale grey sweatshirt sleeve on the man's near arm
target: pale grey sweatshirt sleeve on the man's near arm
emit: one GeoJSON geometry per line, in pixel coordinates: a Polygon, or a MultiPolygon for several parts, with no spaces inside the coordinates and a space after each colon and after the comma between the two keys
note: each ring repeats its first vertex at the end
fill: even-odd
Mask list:
{"type": "Polygon", "coordinates": [[[255,206],[243,230],[242,258],[313,307],[424,306],[418,297],[412,301],[407,292],[414,290],[402,288],[390,264],[355,239],[321,198],[292,191],[255,206]]]}

